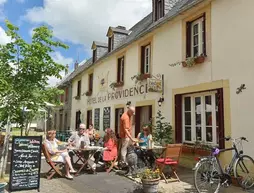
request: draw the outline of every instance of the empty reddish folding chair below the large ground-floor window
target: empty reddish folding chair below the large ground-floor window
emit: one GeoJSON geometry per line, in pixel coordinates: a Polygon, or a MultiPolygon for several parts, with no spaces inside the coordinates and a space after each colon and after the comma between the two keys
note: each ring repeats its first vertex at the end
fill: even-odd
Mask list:
{"type": "Polygon", "coordinates": [[[176,168],[179,164],[181,153],[182,144],[168,144],[166,150],[164,151],[163,157],[156,159],[156,166],[159,168],[160,173],[166,183],[168,183],[168,181],[163,173],[163,170],[166,166],[170,166],[172,174],[174,174],[177,180],[180,182],[180,179],[176,172],[176,168]]]}

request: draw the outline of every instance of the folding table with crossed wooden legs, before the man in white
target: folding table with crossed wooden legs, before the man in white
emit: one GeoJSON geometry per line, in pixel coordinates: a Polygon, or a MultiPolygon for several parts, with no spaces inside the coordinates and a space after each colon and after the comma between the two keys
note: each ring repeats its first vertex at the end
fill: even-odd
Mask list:
{"type": "MultiPolygon", "coordinates": [[[[79,175],[79,173],[81,172],[81,170],[85,167],[85,166],[90,166],[91,169],[94,171],[93,167],[88,163],[89,160],[91,160],[91,158],[94,156],[94,154],[97,151],[102,151],[103,147],[99,147],[99,146],[88,146],[85,147],[84,149],[80,149],[80,148],[76,148],[76,147],[68,147],[68,150],[72,150],[78,157],[78,161],[80,160],[83,164],[81,165],[81,167],[79,168],[79,170],[77,171],[77,173],[75,174],[75,176],[79,175]],[[89,152],[89,156],[88,159],[85,159],[83,155],[80,154],[80,152],[89,152]]],[[[78,162],[77,161],[77,162],[78,162]]],[[[76,163],[77,163],[76,162],[76,163]]]]}

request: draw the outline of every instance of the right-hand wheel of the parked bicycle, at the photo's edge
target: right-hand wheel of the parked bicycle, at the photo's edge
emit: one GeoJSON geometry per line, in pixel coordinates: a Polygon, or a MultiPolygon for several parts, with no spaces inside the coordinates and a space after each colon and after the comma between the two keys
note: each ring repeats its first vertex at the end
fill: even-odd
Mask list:
{"type": "Polygon", "coordinates": [[[238,184],[244,189],[254,186],[254,160],[248,156],[241,156],[234,166],[234,177],[238,184]]]}

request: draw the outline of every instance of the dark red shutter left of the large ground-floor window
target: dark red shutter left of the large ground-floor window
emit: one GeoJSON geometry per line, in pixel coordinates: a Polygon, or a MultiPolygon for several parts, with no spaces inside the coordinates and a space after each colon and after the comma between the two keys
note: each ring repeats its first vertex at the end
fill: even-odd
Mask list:
{"type": "Polygon", "coordinates": [[[175,141],[182,143],[182,95],[175,95],[175,141]]]}

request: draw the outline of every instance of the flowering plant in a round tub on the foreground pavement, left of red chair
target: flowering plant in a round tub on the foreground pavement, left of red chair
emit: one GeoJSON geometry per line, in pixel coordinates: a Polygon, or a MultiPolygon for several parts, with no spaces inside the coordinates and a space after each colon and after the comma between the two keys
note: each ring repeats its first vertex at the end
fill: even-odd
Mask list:
{"type": "Polygon", "coordinates": [[[142,173],[139,174],[144,193],[154,193],[158,192],[158,185],[160,182],[160,171],[146,169],[142,173]]]}

